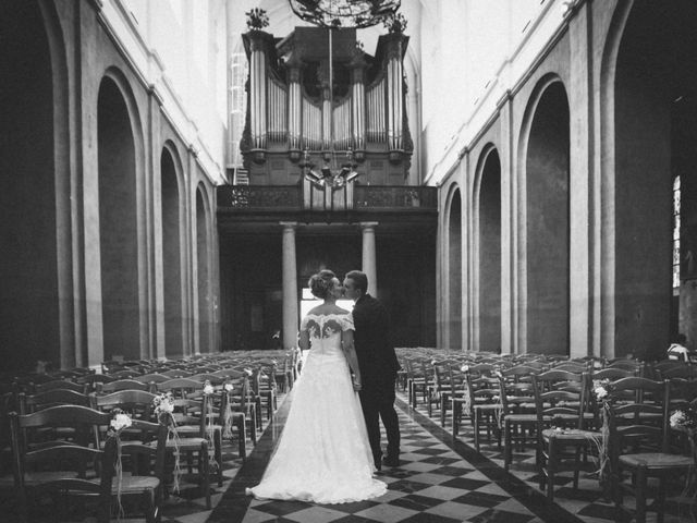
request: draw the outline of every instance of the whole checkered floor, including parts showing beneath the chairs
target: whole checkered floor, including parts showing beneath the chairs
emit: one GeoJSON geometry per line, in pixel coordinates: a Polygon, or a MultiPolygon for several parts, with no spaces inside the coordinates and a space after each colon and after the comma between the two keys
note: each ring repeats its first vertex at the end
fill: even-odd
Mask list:
{"type": "MultiPolygon", "coordinates": [[[[380,479],[389,485],[387,495],[368,501],[318,506],[299,501],[259,501],[245,496],[246,487],[259,483],[264,469],[282,430],[292,394],[281,405],[272,423],[267,423],[256,447],[248,446],[243,464],[236,449],[225,445],[222,487],[213,484],[212,510],[207,510],[197,485],[184,481],[181,492],[162,507],[163,523],[348,523],[348,522],[586,522],[614,521],[612,504],[602,499],[597,479],[583,477],[577,490],[571,474],[555,482],[554,503],[548,503],[537,485],[533,449],[514,454],[511,472],[503,470],[503,455],[496,443],[474,449],[469,424],[452,438],[450,427],[429,418],[425,410],[413,410],[402,394],[398,413],[402,429],[401,465],[383,469],[380,479]]],[[[186,477],[185,477],[186,479],[186,477]]],[[[671,500],[667,523],[697,522],[685,500],[671,500]]],[[[3,511],[4,512],[4,511],[3,511]]],[[[4,512],[3,515],[8,514],[4,512]]],[[[2,520],[1,521],[12,521],[2,520]]],[[[143,521],[122,519],[124,523],[143,521]]],[[[656,521],[649,513],[648,521],[656,521]]]]}

